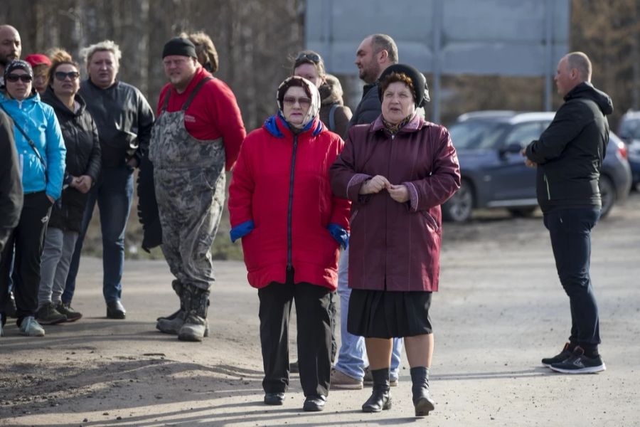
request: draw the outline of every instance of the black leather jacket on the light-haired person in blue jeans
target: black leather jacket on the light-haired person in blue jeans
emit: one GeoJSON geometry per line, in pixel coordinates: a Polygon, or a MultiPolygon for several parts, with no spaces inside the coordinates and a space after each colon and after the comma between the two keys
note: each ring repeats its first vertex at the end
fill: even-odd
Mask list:
{"type": "Polygon", "coordinates": [[[100,132],[103,167],[121,167],[132,157],[142,159],[149,149],[154,112],[142,93],[132,85],[116,81],[102,89],[84,80],[80,95],[100,132]]]}

